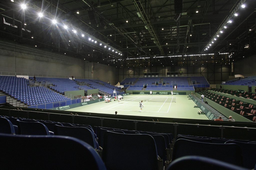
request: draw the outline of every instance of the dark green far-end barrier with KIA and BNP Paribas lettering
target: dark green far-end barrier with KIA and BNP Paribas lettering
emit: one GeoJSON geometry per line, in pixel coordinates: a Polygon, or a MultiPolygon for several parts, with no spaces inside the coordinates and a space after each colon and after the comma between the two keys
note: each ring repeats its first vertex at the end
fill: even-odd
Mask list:
{"type": "MultiPolygon", "coordinates": [[[[125,90],[125,93],[130,94],[149,94],[150,90],[125,90]]],[[[174,90],[173,95],[189,95],[194,90],[174,90]]],[[[171,90],[152,90],[152,94],[171,94],[171,90]]]]}

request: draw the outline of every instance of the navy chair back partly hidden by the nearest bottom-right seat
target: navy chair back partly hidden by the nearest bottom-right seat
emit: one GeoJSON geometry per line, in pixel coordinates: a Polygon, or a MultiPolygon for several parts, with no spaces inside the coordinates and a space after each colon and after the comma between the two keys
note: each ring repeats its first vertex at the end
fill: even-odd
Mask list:
{"type": "Polygon", "coordinates": [[[188,155],[206,156],[231,164],[242,165],[241,148],[233,143],[204,143],[187,139],[176,140],[173,147],[172,160],[188,155]]]}

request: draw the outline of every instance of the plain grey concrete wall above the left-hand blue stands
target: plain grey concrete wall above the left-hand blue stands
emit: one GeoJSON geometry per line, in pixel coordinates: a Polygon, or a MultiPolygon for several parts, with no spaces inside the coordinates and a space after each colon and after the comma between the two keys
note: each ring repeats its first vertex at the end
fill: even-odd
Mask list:
{"type": "Polygon", "coordinates": [[[88,62],[81,57],[70,57],[36,47],[0,41],[0,74],[39,77],[99,78],[115,84],[116,68],[88,62]]]}

